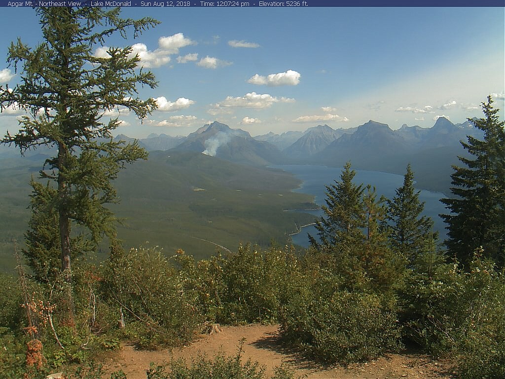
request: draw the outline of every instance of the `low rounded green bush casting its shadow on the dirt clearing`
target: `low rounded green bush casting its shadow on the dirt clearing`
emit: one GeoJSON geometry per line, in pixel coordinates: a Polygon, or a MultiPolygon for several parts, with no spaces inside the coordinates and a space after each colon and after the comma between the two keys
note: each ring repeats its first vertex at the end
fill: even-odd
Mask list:
{"type": "Polygon", "coordinates": [[[396,315],[385,298],[337,291],[298,298],[284,308],[281,336],[316,359],[348,364],[398,348],[396,315]]]}

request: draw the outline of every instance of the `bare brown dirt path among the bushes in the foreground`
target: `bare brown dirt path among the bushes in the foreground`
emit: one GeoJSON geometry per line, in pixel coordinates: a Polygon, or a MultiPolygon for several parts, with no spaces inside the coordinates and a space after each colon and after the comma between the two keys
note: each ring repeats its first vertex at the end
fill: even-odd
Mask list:
{"type": "Polygon", "coordinates": [[[266,367],[267,377],[273,375],[273,368],[285,362],[295,369],[295,377],[312,378],[358,378],[358,379],[449,379],[450,365],[447,362],[433,360],[419,354],[390,354],[368,363],[353,365],[348,368],[340,366],[321,367],[304,359],[298,354],[286,351],[278,341],[277,325],[226,326],[223,331],[214,335],[200,336],[190,346],[160,351],[137,351],[132,346],[125,346],[106,366],[109,371],[122,369],[128,379],[145,379],[145,369],[149,362],[163,363],[171,357],[184,357],[190,361],[198,354],[208,357],[222,351],[234,356],[239,340],[244,338],[243,361],[251,358],[266,367]],[[449,373],[447,372],[449,371],[449,373]]]}

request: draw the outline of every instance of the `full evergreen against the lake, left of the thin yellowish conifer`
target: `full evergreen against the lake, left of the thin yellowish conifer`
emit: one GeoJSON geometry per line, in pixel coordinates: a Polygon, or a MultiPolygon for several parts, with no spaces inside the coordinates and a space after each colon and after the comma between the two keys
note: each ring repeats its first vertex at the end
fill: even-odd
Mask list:
{"type": "Polygon", "coordinates": [[[365,224],[363,210],[363,184],[352,182],[356,175],[347,162],[340,175],[340,181],[326,186],[326,206],[322,206],[324,215],[316,221],[321,243],[309,234],[314,248],[339,247],[348,250],[356,241],[363,241],[362,228],[365,224]]]}

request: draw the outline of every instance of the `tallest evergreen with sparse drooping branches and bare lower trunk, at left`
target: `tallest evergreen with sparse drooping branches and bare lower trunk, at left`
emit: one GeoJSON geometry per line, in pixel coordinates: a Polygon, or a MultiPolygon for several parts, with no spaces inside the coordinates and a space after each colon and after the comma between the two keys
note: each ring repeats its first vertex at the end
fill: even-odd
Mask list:
{"type": "MultiPolygon", "coordinates": [[[[117,201],[111,181],[126,163],[147,156],[137,143],[114,141],[111,131],[120,121],[104,123],[102,117],[121,107],[142,119],[156,108],[153,99],[143,101],[136,94],[138,85],[152,88],[157,83],[152,73],[137,70],[139,58],[130,57],[131,48],[110,48],[108,58],[93,56],[92,49],[115,33],[126,37],[133,29],[137,36],[158,21],[122,19],[119,8],[39,7],[35,12],[43,42],[34,49],[20,39],[11,43],[8,62],[16,70],[22,66],[22,80],[14,88],[0,87],[0,109],[18,107],[28,115],[20,121],[20,130],[7,132],[2,143],[14,143],[21,154],[41,145],[58,149],[40,176],[54,184],[43,196],[52,198],[61,269],[71,283],[71,256],[76,254],[72,221],[89,230],[94,243],[104,234],[114,236],[115,217],[104,206],[117,201]]],[[[67,287],[67,322],[73,324],[67,287]]]]}

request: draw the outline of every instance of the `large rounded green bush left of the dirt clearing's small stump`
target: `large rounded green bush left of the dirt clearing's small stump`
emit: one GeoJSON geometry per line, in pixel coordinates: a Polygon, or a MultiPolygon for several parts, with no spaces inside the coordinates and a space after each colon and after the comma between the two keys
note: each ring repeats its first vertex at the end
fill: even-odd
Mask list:
{"type": "Polygon", "coordinates": [[[102,292],[124,315],[128,338],[142,348],[189,342],[203,321],[194,289],[157,248],[116,252],[102,292]]]}

